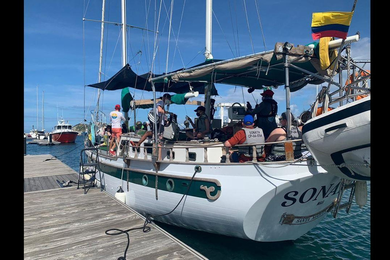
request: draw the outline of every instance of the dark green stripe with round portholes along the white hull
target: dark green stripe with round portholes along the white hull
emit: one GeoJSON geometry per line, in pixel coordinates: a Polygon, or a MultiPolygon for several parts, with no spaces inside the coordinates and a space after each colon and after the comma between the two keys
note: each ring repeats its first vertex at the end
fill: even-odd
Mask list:
{"type": "MultiPolygon", "coordinates": [[[[100,164],[100,168],[105,174],[108,174],[110,176],[113,176],[115,178],[121,179],[122,176],[122,169],[118,169],[112,166],[107,166],[104,164],[100,164]]],[[[128,171],[129,177],[128,181],[137,185],[142,185],[150,188],[155,188],[155,181],[156,176],[153,174],[145,174],[145,173],[139,173],[134,171],[128,171]],[[142,183],[142,177],[146,175],[148,178],[148,182],[146,185],[143,185],[142,183]]],[[[158,186],[157,188],[159,190],[169,191],[167,188],[167,181],[171,179],[173,181],[174,187],[171,192],[179,193],[179,194],[185,194],[187,187],[189,185],[190,180],[188,179],[181,179],[181,178],[169,178],[165,176],[158,176],[158,186]]],[[[123,180],[127,180],[127,172],[126,170],[123,171],[123,180]]],[[[221,190],[221,187],[217,186],[215,182],[211,181],[198,181],[198,180],[192,180],[191,187],[188,190],[188,196],[198,197],[198,198],[204,198],[207,199],[206,192],[202,189],[200,189],[200,186],[204,185],[207,187],[213,186],[215,190],[213,192],[210,192],[211,196],[215,196],[218,192],[218,190],[221,190]]]]}

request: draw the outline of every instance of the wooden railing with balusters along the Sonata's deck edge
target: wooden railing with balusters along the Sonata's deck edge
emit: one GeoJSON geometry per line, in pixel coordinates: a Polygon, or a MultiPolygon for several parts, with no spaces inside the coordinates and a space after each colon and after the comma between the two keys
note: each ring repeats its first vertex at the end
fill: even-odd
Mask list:
{"type": "MultiPolygon", "coordinates": [[[[293,143],[302,142],[302,139],[294,139],[294,140],[285,140],[278,142],[264,142],[264,143],[255,143],[255,144],[242,144],[235,145],[232,148],[225,147],[221,142],[208,142],[204,144],[193,144],[186,145],[178,144],[178,143],[167,143],[165,145],[158,145],[156,153],[159,154],[159,159],[157,161],[171,163],[212,163],[212,164],[231,164],[229,150],[237,151],[238,147],[251,147],[252,148],[252,160],[253,162],[257,162],[257,154],[256,148],[259,146],[264,147],[265,145],[270,144],[284,144],[285,147],[285,155],[286,161],[294,160],[294,149],[293,143]],[[185,153],[182,152],[181,149],[185,150],[185,153]],[[165,151],[167,154],[165,155],[165,151]],[[164,153],[163,153],[164,152],[164,153]],[[191,156],[194,155],[194,156],[191,156]],[[203,155],[201,158],[197,158],[197,155],[203,155]],[[221,156],[225,155],[226,160],[225,163],[221,163],[221,156]]],[[[152,150],[155,150],[154,145],[147,146],[129,146],[128,152],[126,154],[126,159],[137,159],[137,160],[152,160],[152,150]],[[148,152],[149,149],[149,152],[148,152]]]]}

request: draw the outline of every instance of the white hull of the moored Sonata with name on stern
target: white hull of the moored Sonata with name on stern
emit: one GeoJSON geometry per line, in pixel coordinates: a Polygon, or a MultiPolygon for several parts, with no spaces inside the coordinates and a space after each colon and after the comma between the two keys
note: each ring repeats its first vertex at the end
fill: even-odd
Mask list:
{"type": "MultiPolygon", "coordinates": [[[[196,166],[161,163],[156,191],[151,162],[131,160],[126,168],[131,169],[127,177],[127,170],[122,174],[121,158],[101,155],[99,158],[105,190],[114,196],[121,185],[125,203],[143,215],[152,216],[175,208],[196,166]],[[168,191],[169,187],[173,190],[168,191]]],[[[295,240],[326,216],[340,188],[340,178],[310,166],[310,161],[284,168],[252,164],[199,165],[202,171],[195,175],[188,196],[174,212],[155,220],[255,241],[295,240]],[[211,199],[204,186],[216,188],[209,193],[211,199]]]]}

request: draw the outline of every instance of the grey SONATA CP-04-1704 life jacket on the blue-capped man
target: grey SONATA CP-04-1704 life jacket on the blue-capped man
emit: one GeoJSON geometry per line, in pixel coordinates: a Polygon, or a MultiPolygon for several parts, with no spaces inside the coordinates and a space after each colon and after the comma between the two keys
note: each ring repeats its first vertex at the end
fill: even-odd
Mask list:
{"type": "MultiPolygon", "coordinates": [[[[254,128],[241,128],[245,132],[245,142],[242,144],[258,144],[264,143],[265,138],[263,134],[263,129],[254,127],[254,128]]],[[[252,146],[239,146],[238,153],[244,154],[245,156],[252,157],[253,149],[252,146]]],[[[256,157],[262,156],[264,153],[264,145],[256,145],[256,157]]]]}

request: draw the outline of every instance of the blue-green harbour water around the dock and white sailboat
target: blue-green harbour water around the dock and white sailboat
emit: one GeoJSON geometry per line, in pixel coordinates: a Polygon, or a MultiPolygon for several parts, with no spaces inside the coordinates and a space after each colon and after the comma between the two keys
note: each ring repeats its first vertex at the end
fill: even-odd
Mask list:
{"type": "MultiPolygon", "coordinates": [[[[39,146],[27,144],[27,154],[51,154],[75,171],[79,169],[83,137],[73,144],[39,146]],[[66,153],[66,154],[64,154],[66,153]]],[[[347,191],[349,194],[349,191],[347,191]]],[[[170,234],[202,253],[216,259],[370,259],[371,204],[370,183],[368,201],[363,209],[353,204],[349,214],[339,212],[336,219],[328,214],[314,229],[294,242],[255,242],[211,233],[191,231],[164,223],[157,224],[170,234]]],[[[380,221],[380,220],[378,220],[380,221]]],[[[131,250],[131,247],[129,248],[131,250]]]]}

